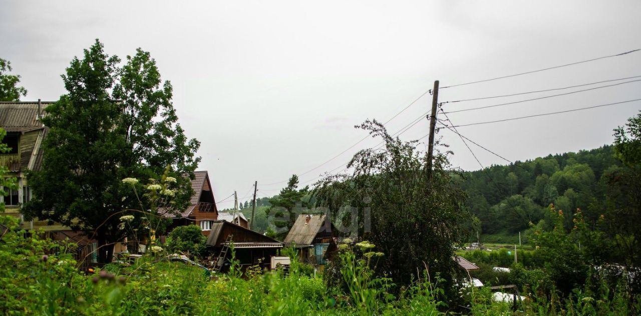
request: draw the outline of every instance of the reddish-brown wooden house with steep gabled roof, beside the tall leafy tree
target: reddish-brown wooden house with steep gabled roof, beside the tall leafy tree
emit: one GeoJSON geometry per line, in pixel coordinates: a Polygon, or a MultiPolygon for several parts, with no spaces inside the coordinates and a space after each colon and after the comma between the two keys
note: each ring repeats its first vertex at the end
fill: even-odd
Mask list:
{"type": "Polygon", "coordinates": [[[218,208],[213,197],[209,174],[207,171],[196,171],[191,182],[194,194],[184,211],[174,213],[169,210],[159,210],[159,213],[174,220],[172,227],[196,224],[200,226],[203,235],[209,236],[213,222],[218,220],[218,208]]]}

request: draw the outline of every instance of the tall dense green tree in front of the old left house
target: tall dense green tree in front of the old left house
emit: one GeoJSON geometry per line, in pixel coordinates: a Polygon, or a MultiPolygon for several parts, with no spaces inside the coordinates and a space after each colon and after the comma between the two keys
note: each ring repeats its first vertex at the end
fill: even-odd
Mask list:
{"type": "Polygon", "coordinates": [[[44,162],[29,174],[34,198],[23,208],[26,219],[60,222],[96,238],[100,262],[124,235],[121,215],[152,209],[153,199],[140,201],[121,180],[172,176],[180,188],[171,192],[173,205],[185,208],[191,188],[183,174],[192,174],[200,159],[199,142],[185,137],[171,84],[149,53],[138,49],[120,63],[98,40],[72,60],[62,76],[68,93],[46,108],[44,162]]]}

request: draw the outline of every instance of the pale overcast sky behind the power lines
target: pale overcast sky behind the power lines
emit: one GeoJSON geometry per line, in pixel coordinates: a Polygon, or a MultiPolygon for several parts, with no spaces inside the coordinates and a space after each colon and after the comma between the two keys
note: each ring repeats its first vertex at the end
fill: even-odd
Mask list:
{"type": "MultiPolygon", "coordinates": [[[[60,74],[95,38],[121,58],[137,47],[151,52],[174,86],[187,135],[201,141],[199,169],[209,171],[217,201],[234,190],[246,201],[254,180],[259,196],[276,194],[291,174],[303,174],[363,138],[354,124],[387,121],[437,79],[444,87],[641,48],[641,1],[598,2],[1,0],[0,58],[22,76],[29,91],[24,101],[54,101],[65,94],[60,74]]],[[[446,88],[439,99],[631,76],[641,76],[641,52],[446,88]]],[[[581,89],[444,104],[444,110],[581,89]]],[[[449,118],[469,124],[639,98],[637,81],[449,118]]],[[[399,130],[430,106],[428,94],[388,130],[399,130]]],[[[637,101],[458,130],[505,158],[527,160],[611,144],[612,129],[640,109],[637,101]]],[[[401,138],[424,137],[428,126],[423,119],[401,138]]],[[[458,136],[447,130],[438,136],[454,151],[454,166],[479,169],[458,136]]],[[[363,141],[301,181],[341,170],[351,154],[378,142],[363,141]]],[[[483,165],[504,163],[470,146],[483,165]]],[[[219,208],[231,205],[228,199],[219,208]]]]}

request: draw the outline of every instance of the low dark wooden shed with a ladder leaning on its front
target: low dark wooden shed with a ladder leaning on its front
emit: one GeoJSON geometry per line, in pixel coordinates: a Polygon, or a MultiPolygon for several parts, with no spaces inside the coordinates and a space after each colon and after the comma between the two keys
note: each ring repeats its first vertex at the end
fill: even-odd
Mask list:
{"type": "Polygon", "coordinates": [[[283,248],[283,243],[274,238],[226,220],[214,221],[207,237],[208,247],[212,247],[215,254],[224,252],[221,260],[228,260],[230,255],[224,249],[229,247],[230,242],[234,245],[236,259],[244,268],[260,265],[271,269],[271,257],[278,255],[278,250],[283,248]]]}

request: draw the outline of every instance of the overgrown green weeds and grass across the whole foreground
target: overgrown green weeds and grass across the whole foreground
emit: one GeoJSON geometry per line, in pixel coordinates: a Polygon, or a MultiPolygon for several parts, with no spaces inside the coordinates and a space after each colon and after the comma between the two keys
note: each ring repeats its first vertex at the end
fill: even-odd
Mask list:
{"type": "MultiPolygon", "coordinates": [[[[508,315],[511,305],[492,300],[489,288],[473,289],[468,309],[442,301],[447,295],[438,276],[424,271],[399,299],[387,294],[385,280],[372,274],[378,255],[362,242],[342,247],[345,281],[354,292],[327,288],[320,278],[298,269],[255,274],[240,270],[227,276],[203,276],[203,270],[181,262],[144,256],[128,267],[112,263],[94,274],[76,269],[75,245],[52,242],[18,230],[17,220],[0,217],[0,310],[7,315],[508,315]],[[47,256],[44,256],[47,254],[47,256]],[[351,279],[351,280],[348,280],[351,279]],[[347,295],[347,296],[345,296],[347,295]],[[354,304],[356,303],[356,304],[354,304]]],[[[233,253],[233,251],[232,251],[233,253]]],[[[296,255],[296,254],[294,254],[296,255]]],[[[235,260],[233,260],[235,261],[235,260]]],[[[233,263],[236,264],[236,263],[233,263]]],[[[533,285],[519,310],[524,315],[637,315],[641,297],[624,283],[603,281],[572,290],[563,298],[545,292],[540,270],[513,270],[510,279],[533,285]],[[516,272],[514,272],[516,271],[516,272]]]]}

